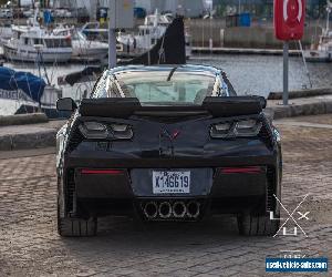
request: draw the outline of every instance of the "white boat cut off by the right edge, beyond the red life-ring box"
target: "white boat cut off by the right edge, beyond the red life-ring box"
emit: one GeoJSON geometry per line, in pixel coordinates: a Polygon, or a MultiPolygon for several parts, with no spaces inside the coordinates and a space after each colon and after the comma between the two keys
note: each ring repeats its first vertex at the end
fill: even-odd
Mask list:
{"type": "Polygon", "coordinates": [[[326,28],[323,29],[320,40],[312,44],[309,50],[304,50],[304,58],[309,62],[332,62],[332,31],[330,31],[329,21],[332,10],[332,2],[328,1],[326,28]]]}

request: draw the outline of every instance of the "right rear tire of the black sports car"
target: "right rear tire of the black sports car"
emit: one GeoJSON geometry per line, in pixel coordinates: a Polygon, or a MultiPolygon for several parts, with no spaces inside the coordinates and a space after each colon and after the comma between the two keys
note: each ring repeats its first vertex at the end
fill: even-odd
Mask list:
{"type": "Polygon", "coordinates": [[[273,236],[279,229],[280,220],[270,219],[269,215],[241,214],[238,227],[245,236],[273,236]]]}

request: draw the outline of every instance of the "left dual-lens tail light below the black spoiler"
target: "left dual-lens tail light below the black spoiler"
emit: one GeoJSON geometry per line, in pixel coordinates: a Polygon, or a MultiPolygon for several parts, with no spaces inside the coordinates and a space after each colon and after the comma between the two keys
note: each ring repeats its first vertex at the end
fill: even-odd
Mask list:
{"type": "Polygon", "coordinates": [[[132,126],[127,124],[108,125],[90,121],[82,123],[79,130],[89,140],[131,140],[134,135],[132,126]]]}

